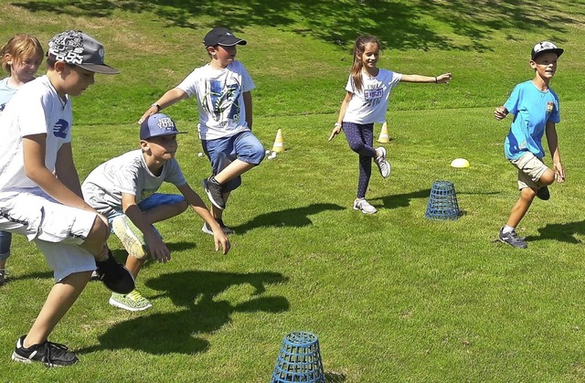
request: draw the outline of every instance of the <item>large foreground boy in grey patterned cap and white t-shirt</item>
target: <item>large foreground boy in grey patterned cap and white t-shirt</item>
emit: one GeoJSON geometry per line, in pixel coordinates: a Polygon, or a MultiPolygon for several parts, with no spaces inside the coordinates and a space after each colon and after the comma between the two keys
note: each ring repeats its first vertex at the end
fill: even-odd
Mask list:
{"type": "Polygon", "coordinates": [[[117,73],[103,61],[95,38],[69,30],[48,43],[47,73],[23,85],[0,116],[0,230],[37,244],[55,284],[27,335],[16,341],[12,358],[48,367],[78,362],[48,335],[96,270],[114,292],[134,288],[132,274],[114,260],[106,240],[105,217],[81,194],[71,149],[71,101],[94,82],[94,73],[117,73]]]}

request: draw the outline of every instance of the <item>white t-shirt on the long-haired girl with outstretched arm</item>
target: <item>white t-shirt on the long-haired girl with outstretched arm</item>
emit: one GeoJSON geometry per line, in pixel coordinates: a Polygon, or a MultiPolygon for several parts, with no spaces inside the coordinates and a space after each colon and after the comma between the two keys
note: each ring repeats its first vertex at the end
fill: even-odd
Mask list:
{"type": "Polygon", "coordinates": [[[354,93],[347,105],[343,121],[354,123],[382,123],[386,121],[390,90],[402,79],[401,73],[378,69],[378,76],[369,77],[362,72],[362,90],[357,91],[349,75],[346,90],[354,93]]]}

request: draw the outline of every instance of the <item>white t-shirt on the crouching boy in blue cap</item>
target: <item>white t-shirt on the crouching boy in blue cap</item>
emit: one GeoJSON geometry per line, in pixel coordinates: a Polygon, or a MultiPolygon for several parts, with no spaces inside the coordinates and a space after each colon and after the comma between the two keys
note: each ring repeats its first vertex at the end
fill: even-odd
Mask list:
{"type": "Polygon", "coordinates": [[[81,185],[81,190],[90,207],[109,217],[115,211],[122,210],[122,193],[133,195],[136,203],[140,203],[152,196],[163,182],[175,186],[186,184],[176,159],[167,161],[160,176],[154,176],[144,161],[142,149],[137,149],[93,169],[81,185]]]}

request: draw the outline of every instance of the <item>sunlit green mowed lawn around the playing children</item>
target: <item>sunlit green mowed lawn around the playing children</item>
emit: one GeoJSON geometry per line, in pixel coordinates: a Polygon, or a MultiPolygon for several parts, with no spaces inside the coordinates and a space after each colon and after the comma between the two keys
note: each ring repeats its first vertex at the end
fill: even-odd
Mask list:
{"type": "MultiPolygon", "coordinates": [[[[153,309],[110,306],[91,282],[51,340],[78,351],[75,367],[9,359],[37,315],[52,275],[42,254],[15,237],[0,290],[0,367],[6,381],[269,381],[282,337],[319,336],[328,381],[585,380],[582,296],[585,239],[580,127],[585,6],[505,2],[0,2],[7,39],[27,30],[44,43],[80,28],[106,46],[119,76],[96,76],[74,100],[81,178],[136,148],[147,106],[206,62],[200,40],[215,24],[249,40],[241,59],[258,87],[254,132],[287,148],[244,176],[225,220],[236,230],[224,257],[192,212],[163,222],[173,260],[147,263],[138,279],[153,309]],[[543,9],[546,9],[544,11],[543,9]],[[343,98],[351,41],[388,45],[381,68],[436,75],[448,86],[402,84],[388,111],[392,175],[374,169],[367,197],[378,214],[351,208],[357,158],[343,136],[326,139],[343,98]],[[518,231],[527,250],[493,243],[515,203],[516,172],[503,155],[510,119],[495,106],[532,76],[529,49],[552,39],[567,51],[553,88],[567,169],[518,231]],[[471,167],[453,169],[453,158],[471,167]],[[463,216],[425,218],[432,183],[453,182],[463,216]],[[4,355],[4,356],[3,356],[4,355]]],[[[209,164],[194,101],[165,112],[179,129],[177,157],[190,184],[209,164]]],[[[376,136],[378,137],[379,126],[376,136]]],[[[547,157],[548,158],[548,157],[547,157]]],[[[165,186],[172,192],[172,186],[165,186]]],[[[207,198],[204,197],[207,201],[207,198]]],[[[125,252],[117,239],[118,260],[125,252]]]]}

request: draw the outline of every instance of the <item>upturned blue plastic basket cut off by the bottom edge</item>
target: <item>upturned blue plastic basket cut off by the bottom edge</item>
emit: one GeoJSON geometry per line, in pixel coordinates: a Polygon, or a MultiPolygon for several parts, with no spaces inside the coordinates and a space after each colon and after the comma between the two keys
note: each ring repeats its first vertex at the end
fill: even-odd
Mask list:
{"type": "Polygon", "coordinates": [[[284,336],[271,383],[324,381],[317,335],[297,331],[284,336]]]}

